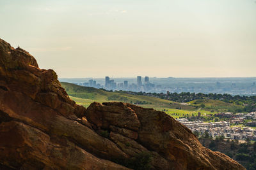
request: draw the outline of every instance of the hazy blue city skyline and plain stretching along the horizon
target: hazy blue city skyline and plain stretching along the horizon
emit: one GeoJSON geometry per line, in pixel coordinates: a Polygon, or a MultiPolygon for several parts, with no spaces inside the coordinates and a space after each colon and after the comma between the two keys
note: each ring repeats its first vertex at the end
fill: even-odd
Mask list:
{"type": "Polygon", "coordinates": [[[252,96],[256,94],[256,78],[71,78],[60,79],[85,87],[152,93],[204,93],[252,96]],[[86,82],[87,81],[87,82],[86,82]]]}

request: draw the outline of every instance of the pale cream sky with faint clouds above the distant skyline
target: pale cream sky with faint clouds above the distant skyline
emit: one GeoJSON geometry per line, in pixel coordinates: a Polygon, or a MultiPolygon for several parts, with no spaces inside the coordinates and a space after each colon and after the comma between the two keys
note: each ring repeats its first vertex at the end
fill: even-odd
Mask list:
{"type": "Polygon", "coordinates": [[[256,76],[255,0],[1,0],[0,20],[59,78],[256,76]]]}

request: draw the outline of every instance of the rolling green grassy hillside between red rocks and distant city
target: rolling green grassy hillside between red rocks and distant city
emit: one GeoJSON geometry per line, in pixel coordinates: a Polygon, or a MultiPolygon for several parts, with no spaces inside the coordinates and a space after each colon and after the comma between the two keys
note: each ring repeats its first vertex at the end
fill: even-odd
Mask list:
{"type": "Polygon", "coordinates": [[[188,103],[188,105],[180,104],[173,101],[159,99],[157,97],[139,96],[127,94],[126,92],[116,91],[108,92],[102,89],[95,89],[92,87],[82,87],[72,83],[61,82],[62,87],[67,91],[70,98],[76,101],[77,104],[84,107],[90,106],[91,103],[97,101],[99,103],[120,101],[124,103],[131,103],[141,106],[143,108],[154,108],[155,110],[164,111],[166,114],[179,118],[184,116],[206,114],[214,114],[218,111],[227,111],[235,105],[225,103],[217,100],[195,100],[188,103]],[[201,104],[205,107],[202,108],[201,104]]]}

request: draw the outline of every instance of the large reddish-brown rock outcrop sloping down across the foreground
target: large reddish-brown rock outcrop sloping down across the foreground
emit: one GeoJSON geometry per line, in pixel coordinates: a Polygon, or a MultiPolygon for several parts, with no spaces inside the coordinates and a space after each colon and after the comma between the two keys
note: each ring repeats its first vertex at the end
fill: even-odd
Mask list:
{"type": "Polygon", "coordinates": [[[70,100],[51,69],[0,39],[0,169],[244,169],[161,111],[70,100]]]}

